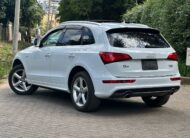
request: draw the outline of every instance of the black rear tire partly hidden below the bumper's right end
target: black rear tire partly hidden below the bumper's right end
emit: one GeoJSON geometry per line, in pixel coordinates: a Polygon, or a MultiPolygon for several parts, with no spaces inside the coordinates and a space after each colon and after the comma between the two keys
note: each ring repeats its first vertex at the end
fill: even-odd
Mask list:
{"type": "Polygon", "coordinates": [[[142,97],[142,100],[145,102],[146,105],[150,107],[161,107],[162,105],[166,104],[170,98],[170,95],[165,96],[148,96],[148,97],[142,97]]]}

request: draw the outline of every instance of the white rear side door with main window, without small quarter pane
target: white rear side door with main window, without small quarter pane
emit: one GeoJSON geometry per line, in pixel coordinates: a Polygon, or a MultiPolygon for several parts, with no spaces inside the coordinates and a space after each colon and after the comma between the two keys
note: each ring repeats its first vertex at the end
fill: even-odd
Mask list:
{"type": "Polygon", "coordinates": [[[68,72],[80,51],[81,38],[81,26],[66,26],[57,46],[52,49],[51,72],[55,87],[67,88],[68,72]]]}

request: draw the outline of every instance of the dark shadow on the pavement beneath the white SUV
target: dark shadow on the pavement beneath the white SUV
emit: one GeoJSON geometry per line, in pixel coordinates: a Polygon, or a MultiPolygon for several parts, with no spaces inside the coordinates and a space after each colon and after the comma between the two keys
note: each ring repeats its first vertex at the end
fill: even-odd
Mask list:
{"type": "MultiPolygon", "coordinates": [[[[31,97],[28,97],[31,99],[31,97]]],[[[53,106],[61,106],[60,109],[69,110],[73,113],[80,113],[76,111],[72,105],[70,94],[62,91],[40,89],[33,96],[32,99],[39,102],[47,102],[53,106]]],[[[51,107],[50,107],[51,108],[51,107]]],[[[109,99],[102,100],[100,108],[95,112],[82,113],[89,116],[129,116],[129,115],[143,115],[156,114],[158,112],[178,112],[168,107],[150,108],[146,106],[140,98],[131,99],[109,99]]]]}

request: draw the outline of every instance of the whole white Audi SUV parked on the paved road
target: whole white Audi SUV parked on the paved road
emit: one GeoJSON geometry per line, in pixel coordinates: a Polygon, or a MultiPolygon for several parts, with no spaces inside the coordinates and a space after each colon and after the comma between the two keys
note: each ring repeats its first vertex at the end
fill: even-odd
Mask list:
{"type": "Polygon", "coordinates": [[[180,88],[177,54],[160,32],[142,24],[68,21],[18,52],[9,74],[20,95],[38,87],[66,91],[79,111],[101,99],[139,96],[164,105],[180,88]]]}

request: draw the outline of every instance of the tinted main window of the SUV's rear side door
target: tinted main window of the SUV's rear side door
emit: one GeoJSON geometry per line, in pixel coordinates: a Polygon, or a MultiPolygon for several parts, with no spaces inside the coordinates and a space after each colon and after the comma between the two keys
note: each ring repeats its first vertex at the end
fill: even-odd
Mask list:
{"type": "Polygon", "coordinates": [[[81,45],[82,30],[67,29],[64,36],[59,40],[62,45],[81,45]]]}

